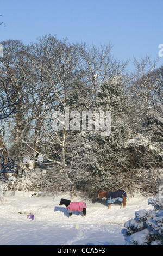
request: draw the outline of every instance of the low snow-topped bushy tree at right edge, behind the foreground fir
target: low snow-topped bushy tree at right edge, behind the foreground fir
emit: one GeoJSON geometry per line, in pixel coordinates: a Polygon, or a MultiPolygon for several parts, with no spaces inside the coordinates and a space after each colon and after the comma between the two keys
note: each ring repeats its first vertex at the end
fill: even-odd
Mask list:
{"type": "Polygon", "coordinates": [[[132,189],[157,193],[162,168],[162,151],[157,143],[152,142],[149,137],[137,134],[126,141],[125,147],[132,189]]]}

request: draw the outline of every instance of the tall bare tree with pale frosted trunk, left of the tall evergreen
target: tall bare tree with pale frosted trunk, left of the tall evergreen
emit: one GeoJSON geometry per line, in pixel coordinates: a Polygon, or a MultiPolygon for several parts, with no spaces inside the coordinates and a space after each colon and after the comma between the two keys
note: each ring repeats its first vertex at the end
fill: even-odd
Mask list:
{"type": "Polygon", "coordinates": [[[40,46],[46,45],[44,48],[47,54],[47,63],[43,65],[43,80],[46,78],[49,87],[48,98],[44,97],[43,105],[47,107],[47,115],[43,124],[42,145],[51,160],[57,163],[61,168],[67,166],[66,145],[68,132],[65,125],[65,112],[70,100],[70,94],[81,80],[80,64],[80,48],[78,44],[68,44],[66,40],[58,41],[53,36],[40,39],[40,46]],[[49,52],[51,53],[49,56],[49,52]],[[73,88],[72,88],[73,87],[73,88]],[[58,123],[58,117],[55,113],[60,113],[60,127],[55,126],[58,123]],[[48,141],[48,143],[46,143],[48,141]]]}

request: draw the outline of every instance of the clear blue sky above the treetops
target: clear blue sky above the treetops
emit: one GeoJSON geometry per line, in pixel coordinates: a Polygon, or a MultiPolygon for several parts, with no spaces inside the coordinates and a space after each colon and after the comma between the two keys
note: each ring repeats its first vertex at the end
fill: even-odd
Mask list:
{"type": "Polygon", "coordinates": [[[51,34],[96,46],[111,42],[119,60],[155,59],[163,44],[163,0],[0,0],[0,14],[0,41],[28,44],[51,34]]]}

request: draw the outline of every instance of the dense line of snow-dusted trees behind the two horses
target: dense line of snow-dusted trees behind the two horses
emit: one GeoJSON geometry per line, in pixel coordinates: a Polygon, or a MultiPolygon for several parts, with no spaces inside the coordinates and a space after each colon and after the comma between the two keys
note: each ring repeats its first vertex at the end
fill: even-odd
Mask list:
{"type": "MultiPolygon", "coordinates": [[[[42,36],[1,42],[1,180],[46,168],[49,190],[70,187],[156,192],[162,169],[163,67],[146,56],[117,61],[112,46],[70,44],[42,36]],[[65,109],[74,129],[66,129],[65,109]],[[54,113],[59,111],[61,119],[54,113]],[[77,113],[111,113],[111,133],[77,127],[77,113]],[[73,113],[73,114],[72,114],[73,113]],[[63,129],[57,130],[56,124],[63,129]],[[42,156],[42,164],[40,160],[42,156]]],[[[92,121],[95,117],[92,117],[92,121]]],[[[87,125],[89,118],[87,118],[87,125]]],[[[105,125],[106,126],[106,125],[105,125]]],[[[101,126],[99,126],[101,127],[101,126]]],[[[46,183],[46,182],[44,182],[46,183]]]]}

